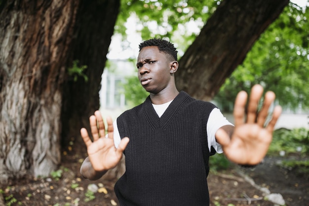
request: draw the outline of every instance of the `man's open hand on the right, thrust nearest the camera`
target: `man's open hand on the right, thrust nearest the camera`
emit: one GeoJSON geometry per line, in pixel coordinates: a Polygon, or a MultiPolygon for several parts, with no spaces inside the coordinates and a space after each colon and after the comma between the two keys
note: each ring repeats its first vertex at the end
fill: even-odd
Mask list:
{"type": "Polygon", "coordinates": [[[281,114],[281,107],[275,106],[272,118],[266,124],[268,111],[275,99],[271,91],[265,94],[262,108],[258,111],[258,104],[263,95],[263,87],[255,85],[251,89],[245,120],[245,107],[248,95],[241,91],[238,93],[234,105],[235,127],[222,127],[216,133],[216,140],[222,145],[225,155],[232,162],[241,165],[259,164],[265,157],[276,121],[281,114]]]}

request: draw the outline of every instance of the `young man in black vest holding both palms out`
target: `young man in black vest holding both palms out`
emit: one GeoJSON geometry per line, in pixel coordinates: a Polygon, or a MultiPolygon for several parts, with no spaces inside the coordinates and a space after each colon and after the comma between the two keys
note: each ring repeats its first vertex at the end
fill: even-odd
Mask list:
{"type": "Polygon", "coordinates": [[[235,100],[235,126],[212,103],[178,92],[174,73],[177,51],[170,42],[150,39],[140,44],[138,77],[150,96],[108,123],[108,136],[99,111],[90,117],[91,141],[80,134],[88,157],[80,172],[95,180],[116,167],[125,155],[126,172],[115,193],[121,206],[208,206],[208,160],[214,149],[240,165],[259,164],[267,153],[281,107],[274,108],[264,127],[273,92],[267,92],[257,115],[263,88],[252,88],[244,122],[247,94],[235,100]]]}

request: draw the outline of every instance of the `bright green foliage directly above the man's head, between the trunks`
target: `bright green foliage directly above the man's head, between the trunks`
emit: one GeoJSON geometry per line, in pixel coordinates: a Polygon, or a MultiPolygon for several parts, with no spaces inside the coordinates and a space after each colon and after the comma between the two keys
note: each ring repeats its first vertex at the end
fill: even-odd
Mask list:
{"type": "Polygon", "coordinates": [[[201,29],[219,3],[220,0],[121,0],[115,32],[122,35],[123,47],[128,46],[126,23],[135,16],[137,32],[143,39],[164,38],[178,44],[179,51],[185,51],[197,34],[183,27],[196,22],[201,29]]]}

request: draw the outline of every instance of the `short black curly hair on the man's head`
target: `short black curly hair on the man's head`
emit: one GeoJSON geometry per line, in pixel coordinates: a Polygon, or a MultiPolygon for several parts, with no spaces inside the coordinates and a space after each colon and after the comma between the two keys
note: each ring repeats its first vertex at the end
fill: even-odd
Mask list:
{"type": "Polygon", "coordinates": [[[140,43],[140,51],[147,46],[157,46],[159,51],[165,52],[170,55],[173,60],[177,61],[177,50],[171,42],[164,39],[152,38],[140,43]]]}

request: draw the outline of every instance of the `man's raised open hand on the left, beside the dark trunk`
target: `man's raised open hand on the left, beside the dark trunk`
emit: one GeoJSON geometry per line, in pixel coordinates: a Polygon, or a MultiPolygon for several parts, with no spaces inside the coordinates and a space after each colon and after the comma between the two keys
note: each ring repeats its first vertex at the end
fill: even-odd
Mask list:
{"type": "Polygon", "coordinates": [[[129,142],[129,138],[122,138],[116,148],[113,137],[113,121],[110,117],[107,118],[108,137],[105,137],[105,127],[100,111],[95,111],[94,115],[90,116],[89,122],[93,141],[85,128],[81,128],[80,134],[87,146],[88,158],[92,168],[97,172],[115,168],[122,158],[122,153],[129,142]]]}

